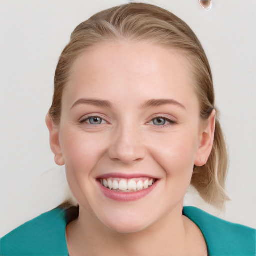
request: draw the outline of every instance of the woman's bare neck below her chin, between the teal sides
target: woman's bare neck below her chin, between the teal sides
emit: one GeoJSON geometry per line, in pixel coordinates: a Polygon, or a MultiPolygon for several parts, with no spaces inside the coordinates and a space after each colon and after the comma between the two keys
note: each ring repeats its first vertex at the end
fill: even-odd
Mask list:
{"type": "Polygon", "coordinates": [[[67,225],[70,255],[184,255],[186,228],[183,205],[143,230],[120,233],[109,229],[80,207],[78,219],[67,225]]]}

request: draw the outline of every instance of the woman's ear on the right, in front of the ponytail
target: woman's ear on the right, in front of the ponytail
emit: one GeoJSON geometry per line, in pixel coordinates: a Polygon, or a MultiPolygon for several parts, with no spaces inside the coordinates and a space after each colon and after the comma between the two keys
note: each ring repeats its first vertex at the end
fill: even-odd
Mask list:
{"type": "Polygon", "coordinates": [[[196,166],[204,165],[209,158],[214,141],[215,120],[216,111],[213,109],[200,132],[199,147],[194,160],[196,166]]]}

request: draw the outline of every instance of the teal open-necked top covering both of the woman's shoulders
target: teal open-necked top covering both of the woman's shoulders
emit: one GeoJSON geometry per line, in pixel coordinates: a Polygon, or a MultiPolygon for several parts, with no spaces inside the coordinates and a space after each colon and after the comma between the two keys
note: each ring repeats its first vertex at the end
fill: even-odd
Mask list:
{"type": "MultiPolygon", "coordinates": [[[[196,207],[185,206],[183,214],[201,230],[214,256],[255,256],[256,230],[227,222],[196,207]]],[[[67,211],[56,208],[14,229],[0,240],[0,255],[68,255],[65,228],[67,211]]]]}

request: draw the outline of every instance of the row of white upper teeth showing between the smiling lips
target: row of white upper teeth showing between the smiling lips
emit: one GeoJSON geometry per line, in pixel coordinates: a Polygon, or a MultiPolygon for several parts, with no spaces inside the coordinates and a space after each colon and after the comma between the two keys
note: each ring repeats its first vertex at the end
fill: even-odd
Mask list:
{"type": "Polygon", "coordinates": [[[156,179],[141,178],[99,178],[99,182],[106,188],[120,192],[140,191],[151,186],[156,179]]]}

